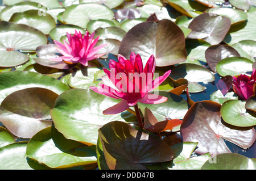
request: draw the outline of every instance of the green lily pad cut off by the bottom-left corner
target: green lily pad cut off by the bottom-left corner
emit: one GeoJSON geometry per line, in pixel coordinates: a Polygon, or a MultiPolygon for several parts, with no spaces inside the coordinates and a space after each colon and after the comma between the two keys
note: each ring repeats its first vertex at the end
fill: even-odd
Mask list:
{"type": "Polygon", "coordinates": [[[1,170],[32,170],[26,157],[27,141],[15,142],[0,148],[1,170]]]}

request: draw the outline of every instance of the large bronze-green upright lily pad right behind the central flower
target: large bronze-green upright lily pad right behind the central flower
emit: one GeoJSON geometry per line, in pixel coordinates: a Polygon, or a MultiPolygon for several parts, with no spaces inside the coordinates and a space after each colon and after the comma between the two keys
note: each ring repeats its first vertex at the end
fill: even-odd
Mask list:
{"type": "Polygon", "coordinates": [[[168,66],[187,59],[183,31],[171,20],[139,23],[123,37],[119,54],[130,57],[130,53],[140,54],[143,65],[153,54],[156,66],[168,66]]]}

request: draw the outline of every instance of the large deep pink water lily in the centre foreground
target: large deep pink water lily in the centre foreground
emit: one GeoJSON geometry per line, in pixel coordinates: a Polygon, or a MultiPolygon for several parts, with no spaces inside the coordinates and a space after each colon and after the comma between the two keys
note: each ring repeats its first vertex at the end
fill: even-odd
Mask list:
{"type": "Polygon", "coordinates": [[[148,59],[143,69],[142,59],[139,54],[131,52],[130,60],[118,54],[118,62],[110,60],[110,70],[104,69],[106,77],[102,78],[104,84],[98,87],[90,87],[99,94],[115,99],[122,99],[103,111],[104,114],[113,115],[127,110],[138,102],[146,104],[158,104],[167,100],[166,97],[149,93],[160,85],[171,73],[171,70],[164,75],[154,78],[155,57],[148,59]]]}

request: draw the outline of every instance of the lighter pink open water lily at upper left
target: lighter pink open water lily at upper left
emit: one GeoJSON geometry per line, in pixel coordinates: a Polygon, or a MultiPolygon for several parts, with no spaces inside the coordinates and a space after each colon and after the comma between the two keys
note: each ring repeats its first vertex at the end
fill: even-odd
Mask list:
{"type": "Polygon", "coordinates": [[[94,40],[94,32],[89,35],[86,31],[85,35],[82,36],[81,32],[75,31],[72,36],[67,32],[67,41],[63,40],[63,43],[54,40],[57,45],[57,50],[63,55],[60,57],[51,58],[53,61],[64,61],[66,64],[77,64],[81,63],[84,66],[88,66],[88,61],[95,58],[101,57],[106,53],[96,54],[106,44],[94,47],[98,41],[99,36],[94,40]]]}

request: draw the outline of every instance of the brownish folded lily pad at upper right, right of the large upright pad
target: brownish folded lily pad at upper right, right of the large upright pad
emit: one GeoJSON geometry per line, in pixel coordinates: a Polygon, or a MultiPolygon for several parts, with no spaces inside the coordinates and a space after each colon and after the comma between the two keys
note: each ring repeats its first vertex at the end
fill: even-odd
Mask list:
{"type": "Polygon", "coordinates": [[[231,20],[225,16],[210,16],[208,13],[201,14],[194,18],[188,28],[192,30],[188,38],[203,39],[214,45],[221,43],[228,33],[231,20]]]}

